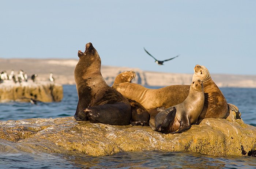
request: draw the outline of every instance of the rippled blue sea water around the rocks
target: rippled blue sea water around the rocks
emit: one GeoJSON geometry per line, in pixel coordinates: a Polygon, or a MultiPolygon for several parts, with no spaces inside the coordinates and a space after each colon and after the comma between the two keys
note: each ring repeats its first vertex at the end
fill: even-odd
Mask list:
{"type": "MultiPolygon", "coordinates": [[[[256,126],[256,88],[221,88],[228,103],[236,105],[246,124],[256,126]]],[[[75,85],[63,86],[64,98],[53,103],[0,103],[0,120],[73,116],[78,96],[75,85]]],[[[192,152],[122,152],[105,157],[63,157],[59,154],[0,153],[0,169],[256,169],[256,157],[214,157],[192,152]],[[72,160],[70,160],[72,159],[72,160]],[[75,159],[75,160],[74,160],[75,159]],[[69,162],[72,161],[72,162],[69,162]],[[76,164],[74,161],[79,161],[76,164]],[[82,161],[82,163],[81,163],[82,161]]]]}

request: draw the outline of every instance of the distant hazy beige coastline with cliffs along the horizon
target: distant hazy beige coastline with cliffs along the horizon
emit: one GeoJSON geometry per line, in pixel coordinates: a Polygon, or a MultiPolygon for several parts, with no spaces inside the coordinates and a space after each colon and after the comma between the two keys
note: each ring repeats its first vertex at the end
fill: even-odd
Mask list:
{"type": "MultiPolygon", "coordinates": [[[[75,84],[74,69],[77,59],[0,59],[0,71],[24,70],[29,76],[37,73],[37,79],[45,81],[53,73],[58,84],[75,84]]],[[[139,68],[102,66],[101,73],[108,85],[112,85],[114,78],[125,70],[135,70],[134,83],[144,86],[162,87],[168,85],[189,85],[192,81],[191,74],[150,72],[139,68]]],[[[211,72],[210,72],[211,73],[211,72]]],[[[256,75],[211,74],[218,87],[256,88],[256,75]]]]}

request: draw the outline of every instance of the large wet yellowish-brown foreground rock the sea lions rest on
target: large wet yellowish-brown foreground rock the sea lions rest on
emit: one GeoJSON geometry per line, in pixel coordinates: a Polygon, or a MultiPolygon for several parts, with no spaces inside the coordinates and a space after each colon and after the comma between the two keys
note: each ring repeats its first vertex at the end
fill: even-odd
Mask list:
{"type": "Polygon", "coordinates": [[[73,117],[0,121],[0,152],[26,151],[103,156],[120,151],[193,151],[255,155],[256,127],[234,118],[204,119],[181,134],[162,134],[147,126],[112,126],[73,117]],[[8,146],[7,146],[8,145],[8,146]]]}

